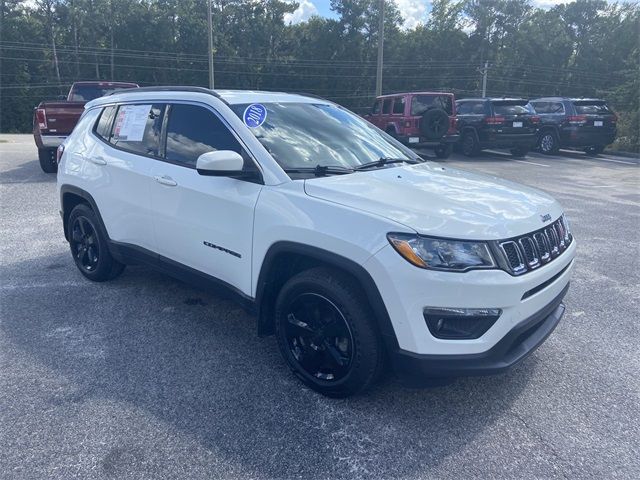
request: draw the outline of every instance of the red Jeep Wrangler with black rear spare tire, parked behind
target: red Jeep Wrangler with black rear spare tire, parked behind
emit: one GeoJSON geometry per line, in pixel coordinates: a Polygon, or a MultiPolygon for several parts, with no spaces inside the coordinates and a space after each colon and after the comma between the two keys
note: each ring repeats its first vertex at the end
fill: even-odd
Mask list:
{"type": "Polygon", "coordinates": [[[451,155],[459,139],[453,93],[383,95],[364,118],[406,145],[433,147],[438,158],[451,155]]]}

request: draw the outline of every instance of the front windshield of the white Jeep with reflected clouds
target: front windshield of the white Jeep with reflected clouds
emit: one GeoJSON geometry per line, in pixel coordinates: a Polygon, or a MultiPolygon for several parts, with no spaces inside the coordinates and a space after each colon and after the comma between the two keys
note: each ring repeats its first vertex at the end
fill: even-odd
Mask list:
{"type": "MultiPolygon", "coordinates": [[[[249,128],[278,164],[287,169],[318,165],[354,168],[381,158],[416,156],[366,120],[336,105],[263,103],[266,119],[249,128]]],[[[245,105],[231,105],[241,119],[245,105]]]]}

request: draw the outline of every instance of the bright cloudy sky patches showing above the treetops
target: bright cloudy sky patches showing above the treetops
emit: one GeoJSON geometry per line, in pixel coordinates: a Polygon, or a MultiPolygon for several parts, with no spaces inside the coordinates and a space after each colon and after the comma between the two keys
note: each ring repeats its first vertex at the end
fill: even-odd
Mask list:
{"type": "MultiPolygon", "coordinates": [[[[329,0],[296,0],[300,6],[285,17],[286,22],[304,22],[312,15],[335,18],[331,11],[329,0]]],[[[533,4],[543,8],[550,8],[560,3],[568,3],[572,0],[533,0],[533,4]]],[[[404,18],[405,28],[414,28],[419,23],[427,20],[431,2],[429,0],[394,0],[404,18]]]]}

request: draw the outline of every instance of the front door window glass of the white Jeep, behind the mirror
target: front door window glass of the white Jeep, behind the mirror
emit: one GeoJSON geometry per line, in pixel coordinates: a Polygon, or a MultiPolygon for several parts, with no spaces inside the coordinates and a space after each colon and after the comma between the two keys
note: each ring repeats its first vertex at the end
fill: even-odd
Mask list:
{"type": "Polygon", "coordinates": [[[206,152],[242,147],[227,126],[210,110],[196,105],[175,104],[169,107],[167,123],[167,160],[195,167],[206,152]]]}

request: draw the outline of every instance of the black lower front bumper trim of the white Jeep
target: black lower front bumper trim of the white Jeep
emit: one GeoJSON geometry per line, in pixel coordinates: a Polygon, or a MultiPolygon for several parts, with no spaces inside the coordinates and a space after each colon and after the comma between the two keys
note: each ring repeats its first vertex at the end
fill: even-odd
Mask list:
{"type": "Polygon", "coordinates": [[[429,383],[430,379],[504,372],[536,350],[562,318],[562,303],[569,284],[540,311],[520,322],[498,343],[482,353],[462,355],[420,355],[406,350],[392,352],[394,370],[405,383],[429,383]]]}

